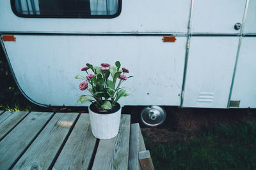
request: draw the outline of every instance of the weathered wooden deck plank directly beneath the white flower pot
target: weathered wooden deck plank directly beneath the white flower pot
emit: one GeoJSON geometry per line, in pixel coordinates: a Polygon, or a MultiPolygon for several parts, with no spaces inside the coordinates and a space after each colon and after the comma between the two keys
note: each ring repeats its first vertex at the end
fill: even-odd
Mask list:
{"type": "Polygon", "coordinates": [[[121,115],[118,135],[100,140],[92,169],[128,169],[131,115],[121,115]]]}

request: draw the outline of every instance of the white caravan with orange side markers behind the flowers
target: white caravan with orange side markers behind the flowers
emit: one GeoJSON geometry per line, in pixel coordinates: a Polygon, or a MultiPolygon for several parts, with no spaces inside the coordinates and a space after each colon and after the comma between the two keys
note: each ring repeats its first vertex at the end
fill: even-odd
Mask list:
{"type": "Polygon", "coordinates": [[[256,0],[1,0],[0,33],[40,106],[84,106],[76,74],[119,60],[123,106],[256,108],[256,0]]]}

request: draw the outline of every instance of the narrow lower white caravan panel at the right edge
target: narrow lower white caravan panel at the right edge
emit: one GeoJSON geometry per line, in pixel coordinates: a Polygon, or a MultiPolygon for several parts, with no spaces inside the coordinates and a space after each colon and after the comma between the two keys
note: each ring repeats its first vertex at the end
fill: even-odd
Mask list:
{"type": "Polygon", "coordinates": [[[239,108],[256,108],[256,38],[244,37],[241,41],[231,101],[239,108]]]}

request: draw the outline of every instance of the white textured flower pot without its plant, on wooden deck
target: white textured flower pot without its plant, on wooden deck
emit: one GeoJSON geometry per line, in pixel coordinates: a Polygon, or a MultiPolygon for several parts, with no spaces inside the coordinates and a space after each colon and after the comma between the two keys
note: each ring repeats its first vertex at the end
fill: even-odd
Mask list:
{"type": "Polygon", "coordinates": [[[93,136],[99,139],[114,138],[119,131],[121,110],[122,107],[115,113],[102,114],[95,113],[89,106],[90,124],[93,136]]]}

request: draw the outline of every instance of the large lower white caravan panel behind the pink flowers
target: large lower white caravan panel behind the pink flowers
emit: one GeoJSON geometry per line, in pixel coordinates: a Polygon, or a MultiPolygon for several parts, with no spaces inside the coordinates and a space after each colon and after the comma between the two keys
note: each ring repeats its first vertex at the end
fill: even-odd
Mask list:
{"type": "MultiPolygon", "coordinates": [[[[52,106],[76,103],[77,74],[86,62],[99,65],[120,60],[134,78],[124,82],[131,96],[125,105],[180,105],[186,37],[163,43],[162,36],[28,36],[6,41],[13,71],[24,93],[33,101],[52,106]],[[161,68],[161,69],[159,69],[161,68]]],[[[86,103],[87,105],[90,103],[86,103]]]]}

